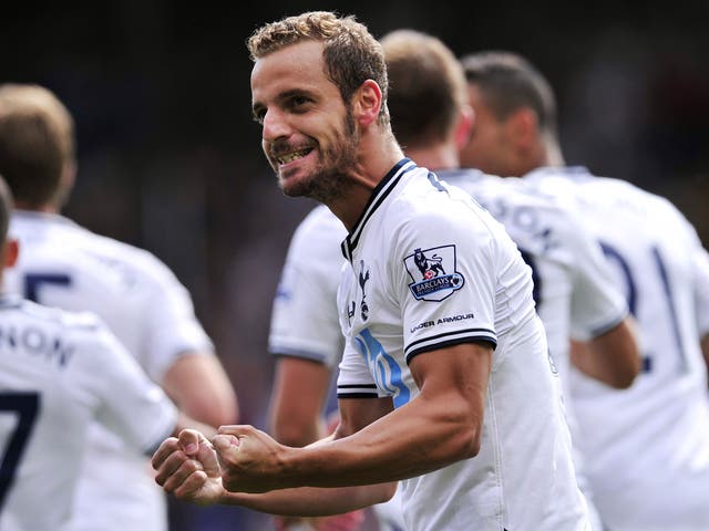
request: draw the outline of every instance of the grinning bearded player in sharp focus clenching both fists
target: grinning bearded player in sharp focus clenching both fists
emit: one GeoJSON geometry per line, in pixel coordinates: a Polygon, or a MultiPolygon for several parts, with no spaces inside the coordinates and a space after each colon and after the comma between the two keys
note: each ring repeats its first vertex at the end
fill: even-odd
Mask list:
{"type": "Polygon", "coordinates": [[[349,230],[340,424],[305,448],[253,426],[212,441],[185,430],[154,455],[158,482],[304,516],[371,504],[401,480],[411,531],[587,530],[530,268],[469,195],[403,157],[381,45],[352,17],[319,11],[261,27],[248,48],[281,189],[349,230]]]}

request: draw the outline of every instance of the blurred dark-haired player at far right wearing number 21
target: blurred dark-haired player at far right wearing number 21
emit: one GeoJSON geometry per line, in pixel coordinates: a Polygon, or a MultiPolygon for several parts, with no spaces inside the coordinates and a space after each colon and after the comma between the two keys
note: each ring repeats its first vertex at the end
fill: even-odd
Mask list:
{"type": "Polygon", "coordinates": [[[610,392],[572,374],[577,440],[604,523],[613,531],[709,529],[709,406],[700,350],[709,267],[696,231],[666,199],[565,166],[554,94],[528,61],[481,52],[463,65],[477,117],[463,164],[525,176],[577,209],[638,323],[644,368],[630,388],[610,392]]]}

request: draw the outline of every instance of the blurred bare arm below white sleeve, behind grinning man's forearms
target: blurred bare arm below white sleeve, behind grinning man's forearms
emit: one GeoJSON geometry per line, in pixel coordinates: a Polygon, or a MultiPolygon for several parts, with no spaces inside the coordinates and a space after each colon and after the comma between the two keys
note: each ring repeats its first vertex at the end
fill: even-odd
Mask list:
{"type": "Polygon", "coordinates": [[[321,412],[330,374],[321,363],[278,357],[269,408],[269,429],[276,440],[302,447],[325,437],[321,412]]]}

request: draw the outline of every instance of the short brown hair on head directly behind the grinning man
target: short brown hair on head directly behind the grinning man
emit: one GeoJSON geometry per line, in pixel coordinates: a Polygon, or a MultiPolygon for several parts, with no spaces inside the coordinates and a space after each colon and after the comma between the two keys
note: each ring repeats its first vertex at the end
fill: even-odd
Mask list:
{"type": "Polygon", "coordinates": [[[435,37],[397,30],[381,39],[394,136],[407,147],[444,140],[467,103],[463,69],[435,37]]]}

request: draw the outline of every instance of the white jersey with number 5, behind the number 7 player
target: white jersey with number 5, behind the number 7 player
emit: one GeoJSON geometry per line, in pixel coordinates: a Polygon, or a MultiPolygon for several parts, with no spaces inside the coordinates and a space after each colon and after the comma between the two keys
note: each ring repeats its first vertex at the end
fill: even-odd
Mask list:
{"type": "MultiPolygon", "coordinates": [[[[40,212],[16,211],[10,235],[20,241],[20,257],[6,272],[8,291],[96,313],[154,382],[183,353],[213,352],[188,292],[150,252],[40,212]]],[[[126,451],[100,425],[91,439],[78,488],[78,529],[165,530],[165,497],[147,459],[126,451]]]]}

